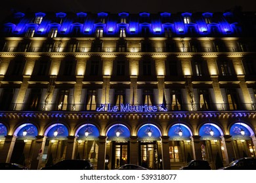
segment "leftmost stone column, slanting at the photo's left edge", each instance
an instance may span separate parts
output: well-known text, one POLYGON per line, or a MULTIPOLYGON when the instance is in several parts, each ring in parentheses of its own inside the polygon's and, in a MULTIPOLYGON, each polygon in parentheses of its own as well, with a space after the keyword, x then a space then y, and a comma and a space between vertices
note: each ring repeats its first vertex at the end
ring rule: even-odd
POLYGON ((7 135, 5 137, 5 143, 3 144, 3 149, 0 152, 0 162, 9 163, 11 161, 12 151, 16 142, 16 138, 16 136, 12 135, 7 135))

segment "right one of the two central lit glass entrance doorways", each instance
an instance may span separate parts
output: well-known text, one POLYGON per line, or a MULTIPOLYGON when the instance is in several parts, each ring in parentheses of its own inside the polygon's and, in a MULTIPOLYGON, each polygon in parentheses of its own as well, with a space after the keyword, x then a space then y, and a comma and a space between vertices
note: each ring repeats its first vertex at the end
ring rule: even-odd
POLYGON ((147 169, 158 169, 158 142, 140 142, 139 165, 147 169))

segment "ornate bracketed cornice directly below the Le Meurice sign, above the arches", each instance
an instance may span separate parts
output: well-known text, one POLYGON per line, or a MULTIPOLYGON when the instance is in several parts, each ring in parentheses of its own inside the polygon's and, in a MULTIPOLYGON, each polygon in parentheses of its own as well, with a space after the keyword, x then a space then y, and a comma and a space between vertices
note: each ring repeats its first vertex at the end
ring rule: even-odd
POLYGON ((142 119, 154 119, 154 120, 173 120, 173 119, 230 119, 230 118, 255 118, 256 111, 236 111, 236 112, 0 112, 1 120, 11 120, 11 119, 91 119, 96 120, 108 120, 108 119, 126 119, 126 120, 142 120, 142 119))

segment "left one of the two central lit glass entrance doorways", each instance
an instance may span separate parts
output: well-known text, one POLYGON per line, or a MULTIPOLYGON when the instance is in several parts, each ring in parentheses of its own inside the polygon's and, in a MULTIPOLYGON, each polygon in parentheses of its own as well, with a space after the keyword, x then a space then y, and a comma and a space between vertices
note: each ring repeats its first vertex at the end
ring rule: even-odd
POLYGON ((113 157, 111 169, 118 169, 122 165, 129 163, 129 143, 128 142, 113 142, 113 157))

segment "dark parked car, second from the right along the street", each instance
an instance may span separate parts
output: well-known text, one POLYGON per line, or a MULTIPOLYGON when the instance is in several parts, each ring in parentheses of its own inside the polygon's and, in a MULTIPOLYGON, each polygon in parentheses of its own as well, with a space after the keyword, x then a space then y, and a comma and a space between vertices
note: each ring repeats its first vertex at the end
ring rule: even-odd
POLYGON ((209 162, 202 159, 191 160, 180 170, 211 170, 209 162))

